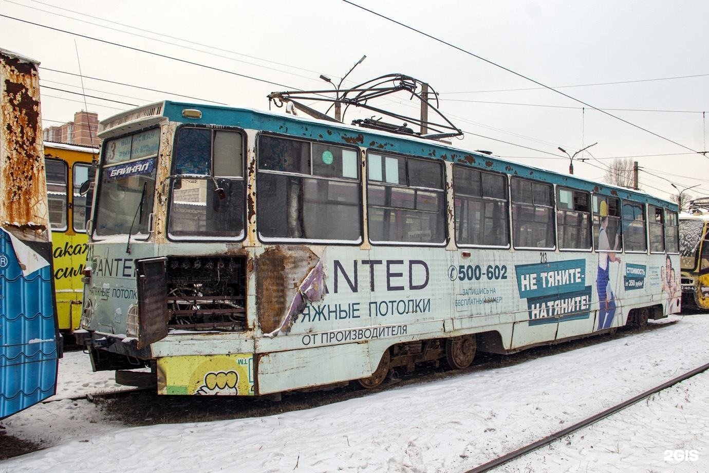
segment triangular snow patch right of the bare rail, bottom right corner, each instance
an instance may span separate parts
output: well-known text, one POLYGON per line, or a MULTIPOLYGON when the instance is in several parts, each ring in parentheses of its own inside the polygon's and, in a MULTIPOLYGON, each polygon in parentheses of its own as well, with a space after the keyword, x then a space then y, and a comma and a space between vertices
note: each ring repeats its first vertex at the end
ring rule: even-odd
POLYGON ((707 472, 707 392, 704 372, 494 471, 707 472))

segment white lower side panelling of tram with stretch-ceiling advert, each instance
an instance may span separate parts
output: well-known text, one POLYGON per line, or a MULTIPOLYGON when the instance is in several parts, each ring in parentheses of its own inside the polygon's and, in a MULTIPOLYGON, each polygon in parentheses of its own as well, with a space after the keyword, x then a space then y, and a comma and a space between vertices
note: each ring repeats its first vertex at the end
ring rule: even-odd
POLYGON ((259 393, 365 377, 396 343, 497 332, 503 349, 515 350, 617 328, 632 308, 667 304, 661 274, 678 263, 675 255, 624 255, 610 266, 606 305, 597 289, 602 253, 470 253, 328 247, 323 299, 308 301, 288 333, 257 342, 267 351, 259 393))

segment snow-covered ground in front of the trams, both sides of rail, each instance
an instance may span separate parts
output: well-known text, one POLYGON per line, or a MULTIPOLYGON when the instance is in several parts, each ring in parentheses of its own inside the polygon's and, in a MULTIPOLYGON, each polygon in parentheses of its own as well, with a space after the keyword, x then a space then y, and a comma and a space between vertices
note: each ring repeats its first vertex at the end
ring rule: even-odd
MULTIPOLYGON (((709 362, 709 315, 670 320, 678 323, 520 365, 268 417, 126 428, 88 401, 40 404, 3 424, 52 446, 0 462, 0 472, 462 472, 709 362)), ((58 397, 115 388, 86 355, 62 360, 58 397)), ((496 471, 709 472, 708 389, 700 374, 496 471)))

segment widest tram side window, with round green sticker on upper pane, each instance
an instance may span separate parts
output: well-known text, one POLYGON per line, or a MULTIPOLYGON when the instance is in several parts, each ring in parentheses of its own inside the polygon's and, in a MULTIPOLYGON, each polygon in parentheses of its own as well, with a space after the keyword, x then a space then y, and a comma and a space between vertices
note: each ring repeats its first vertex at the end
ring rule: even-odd
POLYGON ((262 135, 256 218, 262 240, 362 241, 358 151, 262 135))

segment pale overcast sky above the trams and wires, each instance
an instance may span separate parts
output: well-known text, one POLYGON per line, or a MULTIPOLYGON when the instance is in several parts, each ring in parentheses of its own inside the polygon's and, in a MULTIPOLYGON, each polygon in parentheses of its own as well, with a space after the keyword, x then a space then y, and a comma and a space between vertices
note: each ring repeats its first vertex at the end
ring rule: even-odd
MULTIPOLYGON (((45 126, 84 108, 79 77, 63 73, 79 73, 77 50, 84 76, 128 84, 84 78, 86 95, 102 98, 86 98, 100 119, 131 108, 126 104, 162 99, 267 109, 269 92, 327 88, 320 74, 338 82, 367 55, 344 85, 394 72, 428 82, 440 94, 442 112, 467 132, 456 146, 568 172, 569 158, 557 148, 573 154, 597 142, 591 154, 578 156, 596 160, 575 162, 575 174, 601 179, 610 158, 632 157, 650 194, 676 192, 673 182, 680 189, 700 184, 688 194, 709 196, 709 158, 697 153, 706 150, 709 133, 703 114, 709 111, 708 1, 352 3, 465 52, 342 0, 0 0, 0 15, 42 25, 0 16, 0 48, 41 62, 45 126)), ((408 96, 393 99, 379 105, 418 114, 408 96)))

